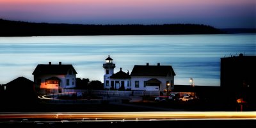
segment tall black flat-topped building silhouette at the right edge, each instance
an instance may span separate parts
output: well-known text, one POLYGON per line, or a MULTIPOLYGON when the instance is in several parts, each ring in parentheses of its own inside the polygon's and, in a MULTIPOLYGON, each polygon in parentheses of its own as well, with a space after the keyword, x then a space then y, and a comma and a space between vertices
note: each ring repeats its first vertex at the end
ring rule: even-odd
POLYGON ((256 56, 231 56, 221 58, 221 89, 230 98, 255 104, 256 56))

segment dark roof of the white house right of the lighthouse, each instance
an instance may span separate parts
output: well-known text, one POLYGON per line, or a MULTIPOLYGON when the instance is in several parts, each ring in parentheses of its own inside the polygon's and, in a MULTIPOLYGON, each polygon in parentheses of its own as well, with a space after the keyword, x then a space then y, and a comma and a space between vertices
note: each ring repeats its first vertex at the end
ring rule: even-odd
POLYGON ((172 73, 173 76, 176 75, 172 66, 135 65, 131 76, 168 76, 168 73, 172 73))

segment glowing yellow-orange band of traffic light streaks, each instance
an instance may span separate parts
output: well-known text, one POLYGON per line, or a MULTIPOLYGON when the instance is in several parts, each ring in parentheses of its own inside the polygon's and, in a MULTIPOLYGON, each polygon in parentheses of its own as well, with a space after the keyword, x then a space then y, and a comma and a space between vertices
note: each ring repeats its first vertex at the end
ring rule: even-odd
POLYGON ((63 112, 63 113, 0 113, 3 120, 47 121, 157 121, 157 120, 256 120, 256 111, 237 112, 63 112))

